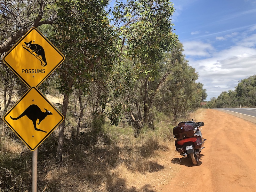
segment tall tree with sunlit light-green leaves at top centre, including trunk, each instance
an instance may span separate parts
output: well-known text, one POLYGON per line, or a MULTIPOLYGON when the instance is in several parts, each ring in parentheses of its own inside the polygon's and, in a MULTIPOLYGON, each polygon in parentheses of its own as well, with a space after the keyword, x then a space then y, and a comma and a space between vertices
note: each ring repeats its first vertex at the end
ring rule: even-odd
MULTIPOLYGON (((159 63, 177 41, 171 21, 173 12, 173 4, 167 0, 116 2, 112 12, 113 25, 123 42, 121 51, 125 58, 132 60, 134 76, 142 88, 139 89, 142 91, 144 124, 148 123, 152 106, 149 83, 159 77, 159 63)), ((160 82, 163 78, 159 78, 160 82)))

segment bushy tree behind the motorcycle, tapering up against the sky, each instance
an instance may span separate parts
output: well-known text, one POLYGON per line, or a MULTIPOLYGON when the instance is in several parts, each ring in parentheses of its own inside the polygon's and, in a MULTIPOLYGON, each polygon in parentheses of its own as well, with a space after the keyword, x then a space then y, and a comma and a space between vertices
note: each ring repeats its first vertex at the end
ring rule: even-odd
POLYGON ((154 102, 158 111, 169 114, 174 121, 196 109, 207 97, 203 84, 196 83, 198 74, 195 68, 188 65, 183 51, 183 45, 178 42, 177 46, 166 54, 165 64, 172 73, 167 76, 154 102))

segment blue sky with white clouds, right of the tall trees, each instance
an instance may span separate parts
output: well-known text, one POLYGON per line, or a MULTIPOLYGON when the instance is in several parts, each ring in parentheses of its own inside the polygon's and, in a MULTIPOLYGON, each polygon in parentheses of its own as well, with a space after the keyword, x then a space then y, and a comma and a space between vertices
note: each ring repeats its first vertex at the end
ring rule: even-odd
MULTIPOLYGON (((171 0, 172 1, 172 0, 171 0)), ((256 74, 256 0, 173 0, 172 23, 207 100, 256 74)))

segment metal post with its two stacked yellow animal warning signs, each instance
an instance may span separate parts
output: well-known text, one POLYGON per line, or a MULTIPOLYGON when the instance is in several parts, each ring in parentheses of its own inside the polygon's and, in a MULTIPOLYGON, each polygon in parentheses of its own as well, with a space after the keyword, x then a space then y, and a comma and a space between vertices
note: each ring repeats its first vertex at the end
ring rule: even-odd
POLYGON ((3 58, 30 88, 3 119, 32 151, 32 192, 37 190, 37 147, 64 120, 37 87, 64 59, 64 55, 36 28, 31 28, 3 58))

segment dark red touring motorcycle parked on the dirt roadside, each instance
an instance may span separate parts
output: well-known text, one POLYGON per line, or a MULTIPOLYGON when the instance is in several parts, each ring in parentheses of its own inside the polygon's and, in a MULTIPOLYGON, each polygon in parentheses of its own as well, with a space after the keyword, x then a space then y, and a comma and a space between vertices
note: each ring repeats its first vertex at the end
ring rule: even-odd
POLYGON ((176 150, 180 152, 182 157, 190 156, 192 163, 199 163, 200 152, 204 148, 204 141, 199 127, 204 126, 204 122, 186 121, 180 122, 178 126, 173 128, 173 136, 175 140, 176 150))

